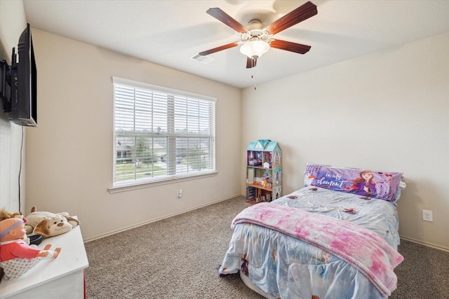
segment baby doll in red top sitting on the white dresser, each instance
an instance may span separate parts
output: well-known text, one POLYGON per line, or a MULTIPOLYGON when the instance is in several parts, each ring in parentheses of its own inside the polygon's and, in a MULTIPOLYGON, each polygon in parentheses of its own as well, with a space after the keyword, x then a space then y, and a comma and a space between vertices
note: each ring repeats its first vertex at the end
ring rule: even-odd
POLYGON ((27 218, 7 218, 0 221, 0 267, 5 279, 15 279, 34 267, 43 258, 56 258, 61 249, 50 251, 51 244, 43 250, 29 246, 25 241, 27 218))

